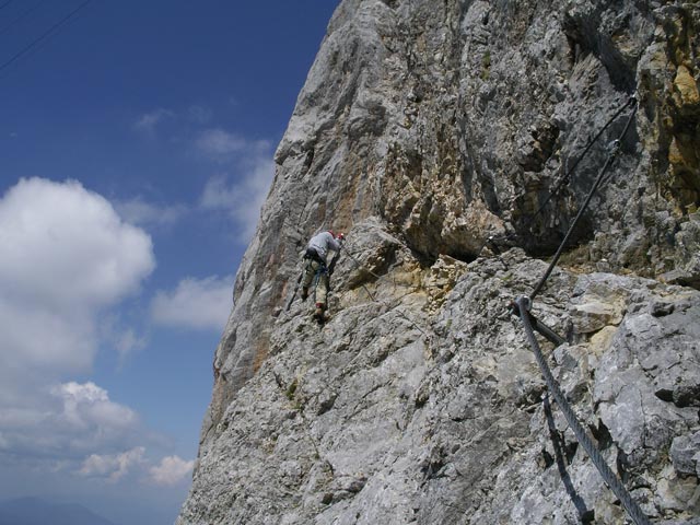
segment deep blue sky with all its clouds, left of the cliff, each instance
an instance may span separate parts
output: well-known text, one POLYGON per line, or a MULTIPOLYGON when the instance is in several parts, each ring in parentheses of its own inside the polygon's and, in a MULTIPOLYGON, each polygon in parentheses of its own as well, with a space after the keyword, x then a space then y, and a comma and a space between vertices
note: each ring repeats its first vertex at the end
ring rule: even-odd
POLYGON ((337 0, 0 0, 0 500, 173 523, 337 0), (14 57, 18 57, 13 60, 14 57))

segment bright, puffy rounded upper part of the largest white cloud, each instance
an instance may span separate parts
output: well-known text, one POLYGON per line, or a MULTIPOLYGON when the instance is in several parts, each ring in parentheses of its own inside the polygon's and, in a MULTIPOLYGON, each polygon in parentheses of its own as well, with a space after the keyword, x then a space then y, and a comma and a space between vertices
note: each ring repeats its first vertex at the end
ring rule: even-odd
POLYGON ((80 183, 21 179, 0 200, 0 282, 51 305, 114 303, 154 267, 151 238, 80 183))

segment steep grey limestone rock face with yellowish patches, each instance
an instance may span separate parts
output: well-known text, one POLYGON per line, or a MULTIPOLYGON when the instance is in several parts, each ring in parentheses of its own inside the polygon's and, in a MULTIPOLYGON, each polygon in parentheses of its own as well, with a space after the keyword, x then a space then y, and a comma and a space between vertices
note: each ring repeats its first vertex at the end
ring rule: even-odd
POLYGON ((343 0, 238 270, 178 524, 623 523, 510 308, 608 161, 533 314, 643 512, 700 523, 698 26, 690 2, 343 0), (348 236, 323 328, 284 308, 320 228, 348 236))

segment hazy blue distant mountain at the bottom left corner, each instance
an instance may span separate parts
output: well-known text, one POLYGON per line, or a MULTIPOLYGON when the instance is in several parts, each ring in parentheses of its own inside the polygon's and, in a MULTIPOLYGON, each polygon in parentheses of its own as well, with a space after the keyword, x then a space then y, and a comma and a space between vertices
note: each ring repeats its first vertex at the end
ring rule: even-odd
POLYGON ((77 504, 20 498, 0 503, 0 525, 115 525, 77 504))

